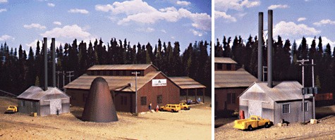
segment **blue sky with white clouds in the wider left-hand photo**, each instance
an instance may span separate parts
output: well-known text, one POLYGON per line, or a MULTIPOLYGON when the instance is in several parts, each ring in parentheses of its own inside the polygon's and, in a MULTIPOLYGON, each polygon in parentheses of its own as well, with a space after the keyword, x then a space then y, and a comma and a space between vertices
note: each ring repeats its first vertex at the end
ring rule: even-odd
POLYGON ((127 39, 134 44, 154 47, 162 42, 188 44, 210 42, 211 1, 129 0, 60 1, 0 0, 0 44, 35 51, 37 40, 56 38, 56 46, 92 43, 102 38, 127 39))

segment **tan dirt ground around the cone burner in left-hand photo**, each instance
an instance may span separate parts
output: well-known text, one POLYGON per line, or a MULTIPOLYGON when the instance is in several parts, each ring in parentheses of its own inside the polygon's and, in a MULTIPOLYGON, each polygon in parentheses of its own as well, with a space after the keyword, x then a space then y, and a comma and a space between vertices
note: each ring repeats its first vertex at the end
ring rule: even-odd
POLYGON ((0 97, 0 139, 211 139, 207 101, 179 113, 118 113, 118 122, 96 123, 79 120, 83 108, 77 107, 59 116, 4 114, 16 99, 0 97))

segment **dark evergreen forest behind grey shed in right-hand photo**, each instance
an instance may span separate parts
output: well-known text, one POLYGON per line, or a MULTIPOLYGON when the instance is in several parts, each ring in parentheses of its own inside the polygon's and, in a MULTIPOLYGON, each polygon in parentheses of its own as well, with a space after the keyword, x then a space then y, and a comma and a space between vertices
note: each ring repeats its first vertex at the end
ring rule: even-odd
MULTIPOLYGON (((263 39, 264 40, 264 39, 263 39)), ((315 37, 307 42, 303 37, 301 42, 282 39, 278 36, 273 44, 273 80, 298 81, 302 83, 302 66, 298 60, 308 59, 311 64, 314 60, 315 86, 319 93, 334 93, 335 91, 335 47, 331 51, 330 44, 322 44, 322 37, 315 37), (318 44, 316 44, 318 41, 318 44), (333 52, 333 53, 331 53, 333 52)), ((229 57, 245 68, 250 74, 257 77, 257 37, 248 37, 244 41, 241 37, 224 37, 217 39, 214 44, 215 57, 229 57)), ((267 47, 263 42, 263 65, 267 65, 267 47)), ((305 66, 305 87, 312 87, 312 67, 305 66)), ((265 76, 265 81, 266 81, 265 76)))

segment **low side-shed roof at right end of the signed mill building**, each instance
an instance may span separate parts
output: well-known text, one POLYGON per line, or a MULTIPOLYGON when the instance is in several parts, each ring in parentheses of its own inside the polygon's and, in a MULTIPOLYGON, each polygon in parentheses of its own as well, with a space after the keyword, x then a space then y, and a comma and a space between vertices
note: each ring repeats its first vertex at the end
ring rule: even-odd
POLYGON ((196 82, 194 79, 190 77, 169 77, 172 82, 177 84, 177 86, 181 89, 202 89, 206 88, 204 85, 196 82))

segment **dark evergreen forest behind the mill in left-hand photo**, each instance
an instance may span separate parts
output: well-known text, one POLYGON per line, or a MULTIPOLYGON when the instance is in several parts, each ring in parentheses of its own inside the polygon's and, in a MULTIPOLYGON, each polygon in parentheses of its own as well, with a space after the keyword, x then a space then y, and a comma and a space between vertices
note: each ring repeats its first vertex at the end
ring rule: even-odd
MULTIPOLYGON (((49 43, 49 42, 48 42, 49 43)), ((6 42, 0 49, 0 90, 11 94, 20 94, 30 86, 44 84, 44 50, 43 42, 30 46, 27 51, 20 45, 9 47, 6 42), (33 51, 33 48, 35 51, 33 51)), ((51 85, 51 52, 48 46, 48 83, 51 85)), ((188 76, 204 84, 206 94, 211 94, 211 54, 207 41, 190 43, 181 52, 179 42, 161 42, 157 44, 130 44, 127 39, 102 42, 77 42, 56 46, 56 71, 73 71, 72 80, 83 75, 92 65, 144 64, 152 63, 169 77, 188 76)), ((56 83, 58 75, 56 75, 56 83)), ((59 87, 68 84, 68 77, 59 75, 59 87)))

